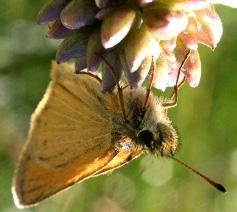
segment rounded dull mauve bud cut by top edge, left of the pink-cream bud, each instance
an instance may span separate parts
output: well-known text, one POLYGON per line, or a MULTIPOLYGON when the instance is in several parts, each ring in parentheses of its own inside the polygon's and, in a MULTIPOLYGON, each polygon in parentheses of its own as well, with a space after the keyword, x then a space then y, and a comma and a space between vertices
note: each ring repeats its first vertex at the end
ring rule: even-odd
POLYGON ((79 29, 95 21, 97 8, 93 0, 72 0, 62 11, 61 21, 69 29, 79 29))

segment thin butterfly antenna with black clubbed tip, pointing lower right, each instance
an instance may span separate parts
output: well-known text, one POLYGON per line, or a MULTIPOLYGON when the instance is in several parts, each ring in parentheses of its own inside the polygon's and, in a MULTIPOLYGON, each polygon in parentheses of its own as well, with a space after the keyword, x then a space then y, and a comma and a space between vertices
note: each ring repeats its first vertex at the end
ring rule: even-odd
POLYGON ((213 187, 215 187, 218 191, 221 191, 221 192, 226 192, 226 189, 223 185, 215 182, 214 180, 211 180, 209 177, 203 175, 202 173, 200 173, 199 171, 195 170, 194 168, 192 168, 191 166, 185 164, 183 161, 177 159, 177 158, 174 158, 174 157, 171 157, 174 161, 178 162, 179 164, 185 166, 187 169, 191 170, 192 172, 196 173, 197 175, 199 175, 201 178, 203 178, 204 180, 206 180, 210 185, 212 185, 213 187))

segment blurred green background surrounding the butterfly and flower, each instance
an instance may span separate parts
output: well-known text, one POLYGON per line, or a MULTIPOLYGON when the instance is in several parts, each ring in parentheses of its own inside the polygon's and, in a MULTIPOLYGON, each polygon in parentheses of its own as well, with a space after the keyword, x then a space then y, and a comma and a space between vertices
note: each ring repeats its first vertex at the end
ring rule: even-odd
POLYGON ((218 48, 200 49, 199 87, 185 85, 170 112, 182 141, 176 157, 223 183, 226 194, 173 161, 144 156, 34 208, 14 206, 15 162, 58 45, 35 23, 43 2, 0 0, 0 211, 237 211, 237 11, 226 7, 217 7, 224 25, 218 48))

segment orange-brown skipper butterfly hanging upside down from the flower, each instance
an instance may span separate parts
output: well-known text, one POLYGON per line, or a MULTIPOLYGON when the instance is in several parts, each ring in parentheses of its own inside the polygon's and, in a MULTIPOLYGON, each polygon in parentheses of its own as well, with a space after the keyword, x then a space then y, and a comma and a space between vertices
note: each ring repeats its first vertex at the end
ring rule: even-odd
POLYGON ((111 172, 145 152, 175 154, 179 142, 167 109, 176 101, 142 88, 103 94, 100 78, 74 74, 67 64, 54 63, 51 79, 32 115, 13 180, 18 207, 111 172))

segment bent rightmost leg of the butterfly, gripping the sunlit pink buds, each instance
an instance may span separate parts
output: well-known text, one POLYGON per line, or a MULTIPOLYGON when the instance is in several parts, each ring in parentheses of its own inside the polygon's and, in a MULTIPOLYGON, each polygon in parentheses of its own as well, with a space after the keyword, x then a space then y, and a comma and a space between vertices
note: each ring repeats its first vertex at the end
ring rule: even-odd
POLYGON ((168 98, 168 101, 164 102, 162 104, 163 107, 165 108, 171 108, 171 107, 175 107, 177 105, 177 102, 178 102, 178 90, 179 88, 181 88, 181 86, 184 84, 185 82, 185 77, 183 78, 183 80, 179 83, 179 77, 180 77, 180 73, 181 73, 181 70, 182 68, 184 67, 184 64, 186 63, 186 61, 188 60, 189 58, 189 55, 191 53, 191 50, 189 50, 187 52, 187 54, 185 55, 184 57, 184 60, 182 61, 179 69, 178 69, 178 74, 177 74, 177 78, 176 78, 176 83, 175 83, 175 86, 174 86, 174 90, 172 92, 172 95, 170 96, 170 98, 168 98))

